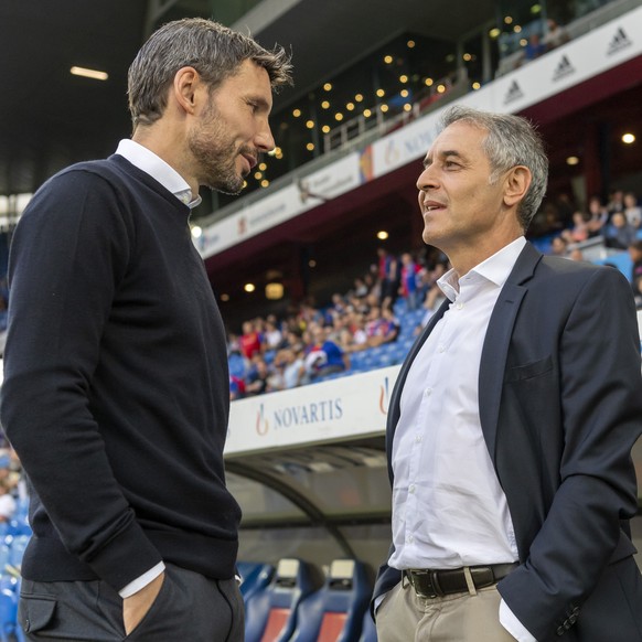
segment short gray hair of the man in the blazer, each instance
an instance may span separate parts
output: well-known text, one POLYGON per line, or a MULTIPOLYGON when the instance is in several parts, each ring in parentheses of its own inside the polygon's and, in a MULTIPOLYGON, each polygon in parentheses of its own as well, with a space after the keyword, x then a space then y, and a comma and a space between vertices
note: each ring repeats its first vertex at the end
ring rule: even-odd
POLYGON ((441 129, 463 120, 488 132, 482 148, 491 165, 491 184, 516 165, 531 170, 531 186, 517 207, 517 218, 526 231, 542 204, 548 183, 548 158, 542 137, 533 125, 513 114, 480 111, 462 105, 448 108, 440 120, 441 129))

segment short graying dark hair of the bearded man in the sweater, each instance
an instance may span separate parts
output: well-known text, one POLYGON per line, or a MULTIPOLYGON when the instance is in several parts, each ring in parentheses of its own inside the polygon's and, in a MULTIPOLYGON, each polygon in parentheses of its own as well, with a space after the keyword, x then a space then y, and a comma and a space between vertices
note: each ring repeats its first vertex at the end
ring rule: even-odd
POLYGON ((129 67, 133 128, 151 125, 162 116, 168 89, 181 67, 194 67, 214 90, 246 60, 268 73, 272 90, 291 84, 290 56, 281 46, 268 51, 252 38, 202 18, 164 24, 151 34, 129 67))

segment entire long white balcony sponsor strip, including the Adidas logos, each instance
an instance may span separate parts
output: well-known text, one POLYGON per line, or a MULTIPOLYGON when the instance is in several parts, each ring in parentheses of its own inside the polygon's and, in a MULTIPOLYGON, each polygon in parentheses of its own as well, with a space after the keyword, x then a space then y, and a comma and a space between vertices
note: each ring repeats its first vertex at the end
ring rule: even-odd
MULTIPOLYGON (((479 109, 517 113, 642 55, 642 7, 599 26, 458 100, 479 109)), ((203 231, 195 244, 204 258, 288 221, 328 199, 424 158, 443 108, 359 152, 253 203, 203 231)), ((417 175, 419 174, 417 165, 417 175)))

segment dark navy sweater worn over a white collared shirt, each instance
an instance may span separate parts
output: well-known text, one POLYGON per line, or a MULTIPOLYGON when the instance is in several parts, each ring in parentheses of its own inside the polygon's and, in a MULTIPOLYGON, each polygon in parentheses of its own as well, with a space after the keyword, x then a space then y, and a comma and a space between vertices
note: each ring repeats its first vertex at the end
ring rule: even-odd
POLYGON ((15 229, 0 409, 34 489, 28 579, 234 575, 225 335, 189 214, 113 156, 47 181, 15 229))

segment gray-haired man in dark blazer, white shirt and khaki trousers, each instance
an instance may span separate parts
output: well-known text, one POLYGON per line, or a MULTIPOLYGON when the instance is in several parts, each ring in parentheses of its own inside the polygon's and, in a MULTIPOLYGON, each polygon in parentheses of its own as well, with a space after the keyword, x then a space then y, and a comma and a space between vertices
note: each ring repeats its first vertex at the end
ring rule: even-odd
POLYGON ((390 399, 378 639, 642 641, 630 286, 525 240, 547 175, 527 121, 453 107, 442 126, 417 186, 452 270, 390 399))

